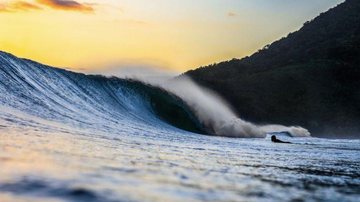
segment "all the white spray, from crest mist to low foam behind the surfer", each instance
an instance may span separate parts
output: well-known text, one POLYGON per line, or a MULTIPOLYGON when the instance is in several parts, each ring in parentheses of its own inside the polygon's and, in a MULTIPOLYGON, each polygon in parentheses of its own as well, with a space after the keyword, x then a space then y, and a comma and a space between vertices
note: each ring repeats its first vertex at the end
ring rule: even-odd
POLYGON ((137 79, 163 88, 180 97, 193 110, 201 124, 211 135, 241 138, 264 138, 267 133, 289 132, 295 137, 310 136, 310 132, 300 126, 256 125, 239 118, 230 105, 215 92, 200 87, 190 78, 181 76, 173 79, 168 72, 142 69, 126 72, 122 77, 137 79), (135 73, 135 74, 134 74, 135 73))

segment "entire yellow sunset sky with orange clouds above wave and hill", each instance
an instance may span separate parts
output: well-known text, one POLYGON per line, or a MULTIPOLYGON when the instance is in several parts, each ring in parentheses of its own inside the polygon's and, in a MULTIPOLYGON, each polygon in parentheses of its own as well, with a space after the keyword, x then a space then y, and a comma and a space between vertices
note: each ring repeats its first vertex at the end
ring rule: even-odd
POLYGON ((251 55, 344 0, 0 0, 0 50, 82 72, 251 55))

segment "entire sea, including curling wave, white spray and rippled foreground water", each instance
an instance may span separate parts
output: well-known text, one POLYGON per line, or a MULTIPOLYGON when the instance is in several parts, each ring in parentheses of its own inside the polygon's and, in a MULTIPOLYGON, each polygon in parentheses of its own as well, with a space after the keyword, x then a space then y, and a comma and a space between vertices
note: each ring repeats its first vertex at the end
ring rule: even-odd
POLYGON ((191 82, 157 86, 1 52, 0 201, 360 197, 360 141, 282 137, 295 144, 273 144, 251 137, 308 134, 241 120, 191 82))

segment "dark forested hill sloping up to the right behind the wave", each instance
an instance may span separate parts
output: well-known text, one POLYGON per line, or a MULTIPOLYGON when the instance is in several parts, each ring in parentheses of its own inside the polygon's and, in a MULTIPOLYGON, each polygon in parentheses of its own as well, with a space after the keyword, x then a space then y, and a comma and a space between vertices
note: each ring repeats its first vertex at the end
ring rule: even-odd
POLYGON ((360 0, 322 13, 250 57, 185 73, 245 119, 360 138, 360 0))

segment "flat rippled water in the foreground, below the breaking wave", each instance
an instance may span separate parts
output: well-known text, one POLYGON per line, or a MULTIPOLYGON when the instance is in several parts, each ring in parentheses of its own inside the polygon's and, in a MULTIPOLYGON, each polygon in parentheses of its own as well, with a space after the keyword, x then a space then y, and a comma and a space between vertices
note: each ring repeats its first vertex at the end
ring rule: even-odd
POLYGON ((358 201, 360 141, 0 130, 0 201, 358 201), (119 134, 120 135, 120 134, 119 134))

